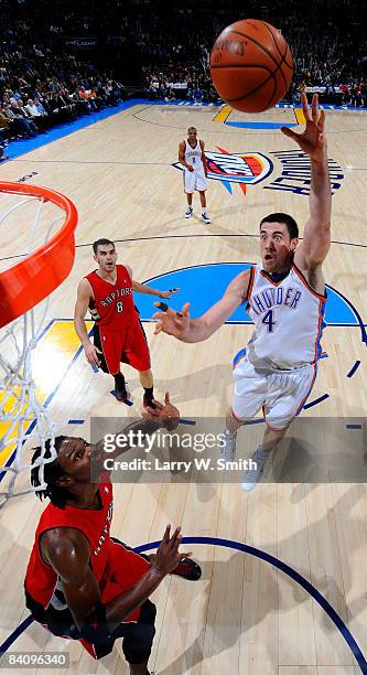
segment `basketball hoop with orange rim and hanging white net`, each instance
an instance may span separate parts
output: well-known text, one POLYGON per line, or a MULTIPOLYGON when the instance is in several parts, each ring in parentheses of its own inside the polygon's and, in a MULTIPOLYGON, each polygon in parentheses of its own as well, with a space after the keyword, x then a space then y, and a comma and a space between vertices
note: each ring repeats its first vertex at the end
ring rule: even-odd
POLYGON ((24 216, 25 223, 32 219, 32 226, 24 242, 26 253, 19 256, 18 250, 15 256, 9 256, 22 259, 0 271, 0 480, 9 479, 9 484, 0 490, 0 506, 12 496, 34 490, 26 485, 15 492, 18 474, 32 468, 23 459, 31 431, 35 431, 39 441, 33 444, 42 448, 36 462, 41 467, 39 490, 45 486, 44 464, 55 458, 55 425, 37 399, 32 377, 32 351, 42 334, 50 293, 66 279, 73 267, 77 225, 77 211, 71 200, 48 188, 0 181, 0 200, 2 196, 6 211, 0 215, 0 232, 6 223, 8 239, 10 235, 9 240, 12 240, 14 232, 13 240, 18 240, 15 227, 24 216), (45 298, 47 301, 42 303, 45 298), (44 458, 46 439, 52 441, 48 459, 44 458))

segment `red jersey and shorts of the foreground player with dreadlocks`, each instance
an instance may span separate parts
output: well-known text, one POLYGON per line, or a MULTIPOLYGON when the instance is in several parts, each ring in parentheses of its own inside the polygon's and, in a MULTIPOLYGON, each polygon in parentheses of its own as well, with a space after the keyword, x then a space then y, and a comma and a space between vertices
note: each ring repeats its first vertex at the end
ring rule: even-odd
MULTIPOLYGON (((25 590, 45 609, 53 601, 56 587, 60 588, 55 570, 44 562, 41 555, 40 538, 47 529, 75 527, 86 536, 90 545, 89 565, 98 581, 102 603, 109 602, 131 588, 149 568, 149 562, 141 556, 125 548, 123 545, 117 546, 110 539, 109 529, 114 510, 111 483, 99 485, 99 496, 101 508, 98 510, 76 506, 58 508, 50 503, 41 515, 26 568, 25 590)), ((134 610, 125 621, 137 621, 140 609, 134 610)))

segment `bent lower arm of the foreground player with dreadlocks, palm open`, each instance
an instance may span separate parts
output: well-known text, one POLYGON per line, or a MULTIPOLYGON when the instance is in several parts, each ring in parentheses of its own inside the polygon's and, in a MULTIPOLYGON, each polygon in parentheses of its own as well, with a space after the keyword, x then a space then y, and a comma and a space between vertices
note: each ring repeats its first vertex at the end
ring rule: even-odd
POLYGON ((90 547, 86 537, 74 528, 47 531, 41 540, 42 555, 53 567, 63 585, 67 606, 75 623, 90 642, 106 640, 133 610, 139 608, 172 572, 182 558, 191 553, 180 553, 181 528, 171 536, 168 525, 156 556, 149 569, 128 591, 107 604, 101 604, 100 590, 90 566, 90 547))

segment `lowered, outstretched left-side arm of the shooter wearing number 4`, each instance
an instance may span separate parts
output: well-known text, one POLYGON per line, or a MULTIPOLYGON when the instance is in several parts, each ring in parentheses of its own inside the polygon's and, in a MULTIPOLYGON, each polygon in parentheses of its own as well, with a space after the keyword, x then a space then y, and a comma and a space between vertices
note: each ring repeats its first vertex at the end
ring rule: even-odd
POLYGON ((228 285, 223 298, 202 317, 190 318, 190 303, 183 306, 182 312, 168 309, 165 312, 156 312, 154 335, 166 333, 182 342, 202 342, 207 340, 220 325, 233 314, 233 312, 245 302, 250 280, 250 270, 246 269, 228 285))

